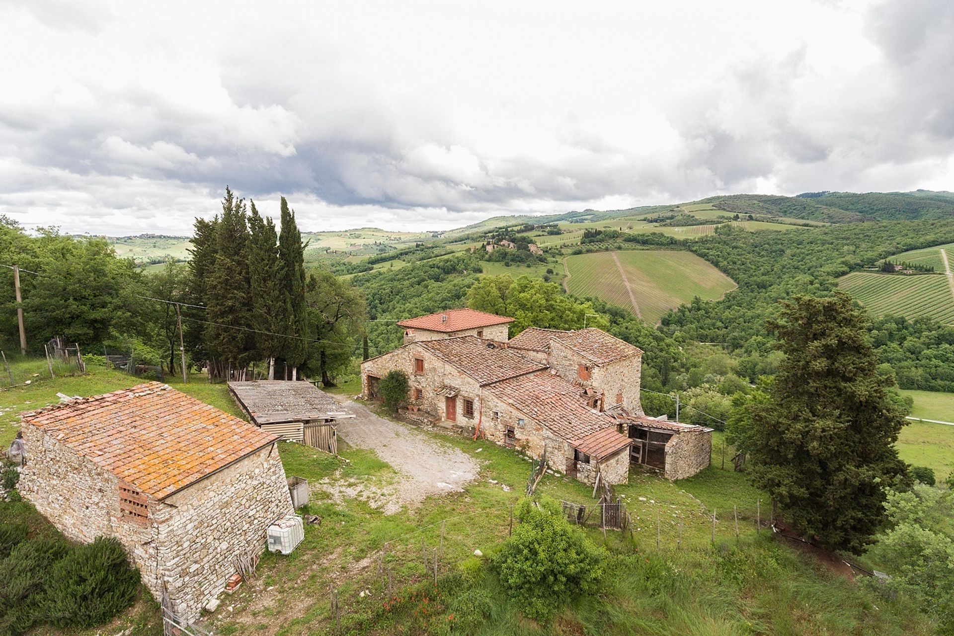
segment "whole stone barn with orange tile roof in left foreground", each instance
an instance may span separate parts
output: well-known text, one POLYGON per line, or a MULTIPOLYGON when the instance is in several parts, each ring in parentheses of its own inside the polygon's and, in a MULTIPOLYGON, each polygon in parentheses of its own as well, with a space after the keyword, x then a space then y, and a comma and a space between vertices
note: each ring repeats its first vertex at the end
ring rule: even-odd
POLYGON ((73 540, 118 539, 187 621, 294 512, 276 436, 165 384, 27 412, 21 430, 23 496, 73 540))

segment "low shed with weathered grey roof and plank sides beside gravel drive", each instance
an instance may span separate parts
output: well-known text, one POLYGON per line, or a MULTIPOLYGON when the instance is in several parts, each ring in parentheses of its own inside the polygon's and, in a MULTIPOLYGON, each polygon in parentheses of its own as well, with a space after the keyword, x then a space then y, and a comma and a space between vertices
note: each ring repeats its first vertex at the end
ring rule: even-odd
POLYGON ((335 422, 355 417, 311 382, 229 382, 229 393, 261 430, 329 453, 338 453, 335 422))

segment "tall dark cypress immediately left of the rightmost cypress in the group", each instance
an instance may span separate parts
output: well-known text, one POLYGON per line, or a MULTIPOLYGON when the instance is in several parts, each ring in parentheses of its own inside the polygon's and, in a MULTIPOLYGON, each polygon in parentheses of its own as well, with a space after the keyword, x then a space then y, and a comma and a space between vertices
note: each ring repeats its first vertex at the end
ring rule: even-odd
POLYGON ((270 217, 262 218, 250 202, 249 269, 252 290, 252 325, 259 355, 268 359, 268 379, 275 380, 275 358, 282 352, 285 328, 284 268, 279 256, 279 235, 270 217), (268 332, 260 333, 260 332, 268 332))

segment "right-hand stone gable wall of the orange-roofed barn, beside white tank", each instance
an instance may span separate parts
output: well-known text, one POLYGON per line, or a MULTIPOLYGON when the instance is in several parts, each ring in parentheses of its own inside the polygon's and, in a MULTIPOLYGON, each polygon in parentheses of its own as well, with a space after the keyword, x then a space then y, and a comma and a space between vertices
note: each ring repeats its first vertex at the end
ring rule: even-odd
POLYGON ((161 506, 174 512, 157 527, 159 576, 177 613, 190 621, 225 588, 236 571, 232 558, 261 553, 268 526, 294 512, 276 444, 176 492, 161 506))

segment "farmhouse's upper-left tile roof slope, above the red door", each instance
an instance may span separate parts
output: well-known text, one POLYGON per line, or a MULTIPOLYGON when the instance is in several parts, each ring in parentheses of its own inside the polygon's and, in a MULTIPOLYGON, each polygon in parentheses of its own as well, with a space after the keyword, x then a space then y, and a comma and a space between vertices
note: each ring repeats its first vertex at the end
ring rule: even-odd
POLYGON ((500 342, 476 336, 425 340, 409 346, 424 348, 477 380, 479 384, 489 384, 547 368, 546 364, 534 362, 505 349, 500 342))

